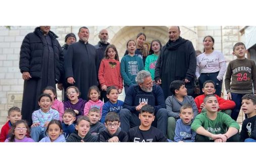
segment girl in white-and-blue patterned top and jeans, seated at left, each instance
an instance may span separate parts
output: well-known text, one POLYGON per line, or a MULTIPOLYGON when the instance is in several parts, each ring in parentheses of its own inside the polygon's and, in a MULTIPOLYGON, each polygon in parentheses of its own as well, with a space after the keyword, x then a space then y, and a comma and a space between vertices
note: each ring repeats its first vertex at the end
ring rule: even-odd
POLYGON ((33 124, 30 136, 35 142, 39 142, 45 137, 44 133, 50 121, 59 120, 59 112, 51 108, 53 100, 48 94, 41 94, 38 98, 40 108, 32 113, 33 124))

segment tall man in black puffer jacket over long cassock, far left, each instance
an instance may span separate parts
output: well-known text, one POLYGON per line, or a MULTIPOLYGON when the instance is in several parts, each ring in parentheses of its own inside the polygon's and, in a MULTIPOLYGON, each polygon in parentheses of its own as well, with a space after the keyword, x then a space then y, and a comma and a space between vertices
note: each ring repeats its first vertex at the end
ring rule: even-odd
POLYGON ((38 96, 46 86, 56 88, 64 71, 64 54, 50 26, 36 27, 25 36, 20 50, 20 71, 24 79, 22 119, 32 124, 32 113, 39 108, 38 96))

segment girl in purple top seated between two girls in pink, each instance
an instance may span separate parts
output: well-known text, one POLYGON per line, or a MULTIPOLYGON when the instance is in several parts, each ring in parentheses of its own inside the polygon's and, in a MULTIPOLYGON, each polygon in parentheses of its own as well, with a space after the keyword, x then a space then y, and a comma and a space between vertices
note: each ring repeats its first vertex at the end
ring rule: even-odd
MULTIPOLYGON (((84 115, 84 105, 87 101, 79 98, 81 93, 76 86, 68 87, 66 90, 66 94, 69 100, 64 102, 64 110, 67 108, 74 109, 77 120, 78 116, 84 115)), ((74 124, 76 124, 76 120, 74 121, 74 124)))

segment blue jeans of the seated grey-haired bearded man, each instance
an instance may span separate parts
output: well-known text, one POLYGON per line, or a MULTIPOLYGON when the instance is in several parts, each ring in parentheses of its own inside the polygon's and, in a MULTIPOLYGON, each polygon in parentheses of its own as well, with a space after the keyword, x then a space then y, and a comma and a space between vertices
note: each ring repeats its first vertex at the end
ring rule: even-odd
MULTIPOLYGON (((164 135, 166 135, 167 132, 167 109, 160 108, 155 113, 156 119, 153 121, 152 126, 157 127, 160 129, 164 135)), ((130 128, 136 127, 140 125, 140 120, 138 118, 138 115, 135 113, 131 113, 131 111, 127 108, 123 108, 119 112, 120 117, 120 127, 124 132, 129 132, 130 128)))

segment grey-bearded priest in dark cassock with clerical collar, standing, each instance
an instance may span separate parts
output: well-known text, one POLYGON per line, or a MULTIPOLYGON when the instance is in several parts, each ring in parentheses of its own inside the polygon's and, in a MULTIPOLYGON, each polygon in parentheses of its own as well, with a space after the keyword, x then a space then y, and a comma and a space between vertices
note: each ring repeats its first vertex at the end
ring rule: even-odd
POLYGON ((88 89, 97 85, 98 55, 96 48, 88 43, 89 29, 85 26, 78 31, 79 41, 69 45, 65 57, 67 82, 79 88, 80 97, 88 100, 88 89))

